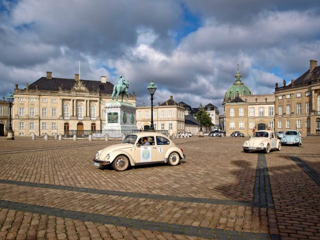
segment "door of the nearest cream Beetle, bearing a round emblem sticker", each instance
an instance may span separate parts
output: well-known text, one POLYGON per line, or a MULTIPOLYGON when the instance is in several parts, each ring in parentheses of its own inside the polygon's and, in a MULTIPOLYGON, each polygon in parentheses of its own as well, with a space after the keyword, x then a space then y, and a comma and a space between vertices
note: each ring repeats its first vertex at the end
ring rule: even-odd
POLYGON ((150 145, 142 145, 142 138, 140 137, 134 148, 134 162, 135 163, 146 163, 156 161, 157 149, 154 144, 154 136, 146 136, 150 145))

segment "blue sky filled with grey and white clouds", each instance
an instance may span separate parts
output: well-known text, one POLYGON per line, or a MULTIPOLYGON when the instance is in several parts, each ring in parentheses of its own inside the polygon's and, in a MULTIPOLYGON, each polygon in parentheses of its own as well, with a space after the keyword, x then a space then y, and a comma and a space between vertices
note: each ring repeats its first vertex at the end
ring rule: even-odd
POLYGON ((137 105, 220 108, 239 64, 253 94, 320 63, 318 0, 0 0, 0 96, 53 77, 130 80, 137 105))

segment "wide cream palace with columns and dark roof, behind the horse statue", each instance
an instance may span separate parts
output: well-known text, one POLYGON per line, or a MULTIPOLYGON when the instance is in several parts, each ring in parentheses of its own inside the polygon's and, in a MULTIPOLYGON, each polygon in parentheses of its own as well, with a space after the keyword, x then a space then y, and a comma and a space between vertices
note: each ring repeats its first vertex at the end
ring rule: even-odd
MULTIPOLYGON (((111 100, 113 84, 100 81, 52 77, 46 72, 25 88, 14 88, 12 128, 16 136, 55 135, 67 130, 100 130, 105 123, 104 104, 111 100)), ((135 106, 135 94, 128 102, 135 106)))

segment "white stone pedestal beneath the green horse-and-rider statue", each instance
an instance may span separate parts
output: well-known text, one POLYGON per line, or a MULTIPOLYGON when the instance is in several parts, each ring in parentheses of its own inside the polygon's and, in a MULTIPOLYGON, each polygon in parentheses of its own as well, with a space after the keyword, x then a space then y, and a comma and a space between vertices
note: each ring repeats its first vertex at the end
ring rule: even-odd
POLYGON ((133 104, 122 101, 111 101, 104 105, 105 126, 102 130, 137 130, 133 104))

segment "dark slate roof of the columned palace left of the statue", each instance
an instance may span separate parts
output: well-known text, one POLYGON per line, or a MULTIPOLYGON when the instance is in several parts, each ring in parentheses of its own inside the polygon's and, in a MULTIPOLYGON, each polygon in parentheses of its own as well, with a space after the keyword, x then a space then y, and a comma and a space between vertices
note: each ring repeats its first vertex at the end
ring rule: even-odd
MULTIPOLYGON (((96 92, 97 89, 99 89, 100 93, 109 93, 109 94, 111 94, 113 91, 113 84, 109 81, 107 81, 106 83, 102 83, 101 81, 83 80, 83 79, 80 79, 79 81, 82 81, 89 91, 96 92)), ((75 83, 75 79, 72 79, 72 78, 52 77, 51 79, 48 79, 42 76, 39 79, 37 79, 35 82, 31 83, 29 85, 29 89, 36 89, 36 85, 37 85, 39 90, 58 91, 60 86, 63 90, 69 91, 71 90, 74 83, 75 83)))

